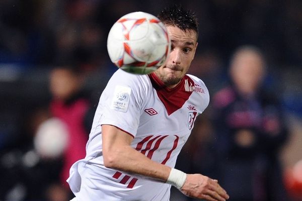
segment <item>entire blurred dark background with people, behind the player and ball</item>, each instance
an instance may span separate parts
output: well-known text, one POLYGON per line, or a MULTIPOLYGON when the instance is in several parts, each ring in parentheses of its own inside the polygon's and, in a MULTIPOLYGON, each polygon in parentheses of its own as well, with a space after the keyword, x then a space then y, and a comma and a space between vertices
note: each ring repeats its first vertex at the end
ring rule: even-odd
MULTIPOLYGON (((217 178, 231 200, 302 200, 302 2, 0 1, 0 200, 65 201, 99 96, 117 69, 121 16, 196 12, 190 73, 210 91, 177 167, 217 178)), ((171 201, 190 200, 173 190, 171 201)))

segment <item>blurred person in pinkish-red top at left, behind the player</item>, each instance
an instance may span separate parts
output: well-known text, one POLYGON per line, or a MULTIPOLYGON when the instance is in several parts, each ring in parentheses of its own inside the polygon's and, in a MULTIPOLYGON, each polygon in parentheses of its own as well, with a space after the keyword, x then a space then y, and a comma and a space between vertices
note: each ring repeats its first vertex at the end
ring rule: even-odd
POLYGON ((63 153, 61 182, 67 185, 71 165, 85 157, 85 148, 90 133, 91 103, 89 95, 83 90, 85 74, 77 64, 63 63, 50 72, 50 92, 52 101, 50 113, 66 124, 68 142, 63 153), (85 123, 89 123, 86 125, 85 123))

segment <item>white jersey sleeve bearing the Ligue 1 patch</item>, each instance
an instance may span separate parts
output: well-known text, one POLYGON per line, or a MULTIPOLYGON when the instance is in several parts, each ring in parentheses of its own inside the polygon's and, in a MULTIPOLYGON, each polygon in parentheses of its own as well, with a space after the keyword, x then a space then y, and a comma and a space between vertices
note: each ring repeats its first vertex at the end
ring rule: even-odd
POLYGON ((100 125, 116 126, 135 137, 147 91, 146 75, 117 70, 100 98, 100 125))

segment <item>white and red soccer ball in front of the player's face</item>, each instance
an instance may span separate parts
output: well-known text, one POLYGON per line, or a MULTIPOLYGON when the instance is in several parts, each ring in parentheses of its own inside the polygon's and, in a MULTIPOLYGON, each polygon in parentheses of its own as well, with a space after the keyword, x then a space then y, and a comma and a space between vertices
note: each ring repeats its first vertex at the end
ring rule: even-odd
POLYGON ((165 25, 157 17, 134 12, 112 26, 107 49, 117 67, 134 74, 148 74, 166 61, 171 41, 165 25))

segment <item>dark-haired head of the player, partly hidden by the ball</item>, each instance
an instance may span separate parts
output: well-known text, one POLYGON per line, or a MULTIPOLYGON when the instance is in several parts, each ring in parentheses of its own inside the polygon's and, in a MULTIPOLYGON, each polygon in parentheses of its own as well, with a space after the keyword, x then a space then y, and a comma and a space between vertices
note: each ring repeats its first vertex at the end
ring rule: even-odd
POLYGON ((172 44, 165 64, 155 73, 168 87, 174 87, 185 76, 194 58, 198 23, 193 12, 180 6, 165 8, 158 17, 166 25, 172 44))

